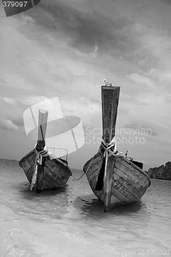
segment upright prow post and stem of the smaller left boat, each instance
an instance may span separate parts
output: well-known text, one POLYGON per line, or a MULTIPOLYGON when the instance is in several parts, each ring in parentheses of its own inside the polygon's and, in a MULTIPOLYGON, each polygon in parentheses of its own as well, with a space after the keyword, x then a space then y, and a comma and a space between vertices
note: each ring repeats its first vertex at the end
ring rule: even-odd
MULTIPOLYGON (((35 146, 35 149, 38 152, 42 151, 45 147, 47 119, 48 119, 48 111, 44 109, 39 109, 38 137, 37 137, 37 144, 35 146)), ((37 158, 37 155, 36 155, 33 174, 31 178, 30 190, 32 190, 32 188, 36 185, 36 192, 41 192, 42 181, 43 181, 42 156, 40 155, 40 159, 39 159, 37 158)))

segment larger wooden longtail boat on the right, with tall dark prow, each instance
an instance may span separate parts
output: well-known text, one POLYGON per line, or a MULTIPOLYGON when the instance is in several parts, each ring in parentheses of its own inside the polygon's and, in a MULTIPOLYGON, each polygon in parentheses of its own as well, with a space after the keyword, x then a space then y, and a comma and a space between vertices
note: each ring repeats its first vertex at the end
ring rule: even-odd
MULTIPOLYGON (((118 152, 115 127, 119 102, 119 86, 105 83, 102 89, 103 137, 99 151, 83 167, 93 193, 103 201, 104 211, 136 203, 150 186, 148 175, 118 152), (109 85, 109 86, 108 86, 109 85)), ((134 162, 134 163, 133 163, 134 162)), ((136 165, 136 164, 138 165, 136 165)))

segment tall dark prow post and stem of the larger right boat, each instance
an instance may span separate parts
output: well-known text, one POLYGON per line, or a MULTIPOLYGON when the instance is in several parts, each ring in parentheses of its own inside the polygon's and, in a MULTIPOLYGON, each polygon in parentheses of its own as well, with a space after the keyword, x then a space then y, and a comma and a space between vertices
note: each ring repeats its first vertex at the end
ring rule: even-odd
MULTIPOLYGON (((102 123, 103 123, 103 140, 105 143, 111 142, 115 137, 116 120, 119 103, 119 86, 102 86, 102 123)), ((111 148, 111 150, 113 150, 111 148)), ((114 169, 115 157, 105 155, 104 170, 104 211, 110 211, 111 186, 114 169)))

